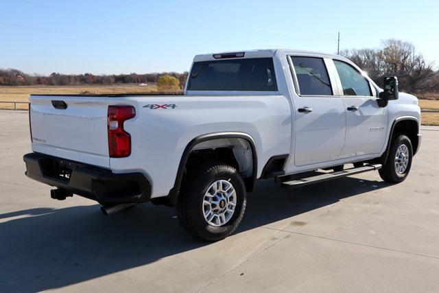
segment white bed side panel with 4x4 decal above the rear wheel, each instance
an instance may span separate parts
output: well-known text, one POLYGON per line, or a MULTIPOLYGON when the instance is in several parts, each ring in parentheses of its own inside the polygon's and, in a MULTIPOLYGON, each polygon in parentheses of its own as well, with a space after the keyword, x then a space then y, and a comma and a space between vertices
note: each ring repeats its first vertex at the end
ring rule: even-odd
POLYGON ((113 172, 143 172, 152 181, 152 198, 169 193, 185 147, 202 134, 249 134, 257 150, 258 177, 271 156, 289 153, 291 114, 283 95, 108 97, 108 104, 121 102, 137 110, 124 124, 132 153, 110 159, 110 167, 113 172), (149 104, 176 107, 144 107, 149 104))

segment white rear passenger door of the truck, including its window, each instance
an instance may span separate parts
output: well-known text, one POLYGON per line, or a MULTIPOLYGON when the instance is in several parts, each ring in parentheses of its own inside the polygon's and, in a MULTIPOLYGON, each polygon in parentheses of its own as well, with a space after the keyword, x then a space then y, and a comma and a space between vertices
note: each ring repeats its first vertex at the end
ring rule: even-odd
POLYGON ((334 95, 326 58, 289 56, 296 88, 294 103, 294 165, 334 161, 342 152, 346 113, 342 97, 334 95))

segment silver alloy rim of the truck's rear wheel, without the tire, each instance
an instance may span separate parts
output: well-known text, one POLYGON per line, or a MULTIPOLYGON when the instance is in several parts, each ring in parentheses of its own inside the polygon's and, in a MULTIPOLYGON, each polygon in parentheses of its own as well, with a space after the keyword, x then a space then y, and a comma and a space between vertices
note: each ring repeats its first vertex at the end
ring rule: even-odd
POLYGON ((227 180, 212 183, 204 194, 202 213, 204 220, 214 227, 226 224, 235 213, 236 191, 227 180))

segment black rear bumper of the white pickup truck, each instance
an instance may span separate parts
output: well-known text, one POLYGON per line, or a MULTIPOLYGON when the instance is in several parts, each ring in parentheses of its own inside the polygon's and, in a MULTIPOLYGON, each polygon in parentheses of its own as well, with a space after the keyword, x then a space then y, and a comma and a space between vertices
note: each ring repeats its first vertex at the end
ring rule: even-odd
POLYGON ((138 172, 115 174, 101 167, 35 152, 25 154, 23 160, 27 177, 100 203, 150 200, 150 182, 138 172))

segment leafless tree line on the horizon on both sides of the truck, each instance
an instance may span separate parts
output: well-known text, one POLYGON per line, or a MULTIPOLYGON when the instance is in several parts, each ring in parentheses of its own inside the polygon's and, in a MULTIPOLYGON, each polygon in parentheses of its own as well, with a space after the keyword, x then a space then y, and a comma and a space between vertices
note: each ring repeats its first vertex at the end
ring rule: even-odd
MULTIPOLYGON (((380 48, 346 49, 340 55, 351 59, 370 78, 381 85, 385 75, 395 75, 399 79, 399 89, 407 93, 439 92, 439 71, 434 62, 427 62, 424 56, 415 50, 412 43, 403 40, 384 40, 380 48)), ((84 84, 139 84, 156 83, 158 78, 166 75, 164 80, 184 86, 187 79, 184 73, 130 73, 118 75, 62 74, 29 75, 17 69, 0 69, 0 86, 40 85, 40 86, 75 86, 84 84), (171 76, 178 83, 169 80, 171 76)))

